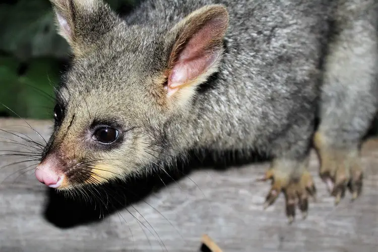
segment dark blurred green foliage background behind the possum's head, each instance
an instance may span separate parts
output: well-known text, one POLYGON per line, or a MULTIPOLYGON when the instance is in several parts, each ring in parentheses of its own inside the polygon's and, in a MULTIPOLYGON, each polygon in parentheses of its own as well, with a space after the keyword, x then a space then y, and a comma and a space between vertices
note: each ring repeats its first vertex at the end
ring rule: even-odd
MULTIPOLYGON (((119 14, 138 0, 106 0, 119 14)), ((53 86, 70 51, 48 0, 0 0, 0 103, 20 117, 52 118, 53 86)), ((0 117, 17 117, 0 105, 0 117)))

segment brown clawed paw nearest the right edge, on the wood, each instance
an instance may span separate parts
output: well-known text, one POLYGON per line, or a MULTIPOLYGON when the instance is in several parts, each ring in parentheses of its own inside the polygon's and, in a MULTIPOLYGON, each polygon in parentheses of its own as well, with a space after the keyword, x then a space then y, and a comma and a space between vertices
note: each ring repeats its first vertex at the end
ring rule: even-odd
POLYGON ((358 147, 335 148, 325 144, 320 133, 314 136, 314 144, 320 158, 320 176, 326 183, 335 204, 345 196, 348 188, 352 199, 358 197, 362 190, 363 169, 360 164, 358 147))

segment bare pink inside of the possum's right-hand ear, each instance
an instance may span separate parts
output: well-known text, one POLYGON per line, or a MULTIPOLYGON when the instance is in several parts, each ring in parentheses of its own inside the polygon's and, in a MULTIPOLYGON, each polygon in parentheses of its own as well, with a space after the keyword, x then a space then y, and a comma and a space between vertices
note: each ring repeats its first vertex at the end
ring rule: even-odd
POLYGON ((220 54, 214 45, 219 39, 219 21, 211 20, 198 30, 180 52, 168 78, 168 88, 175 88, 206 72, 220 54))

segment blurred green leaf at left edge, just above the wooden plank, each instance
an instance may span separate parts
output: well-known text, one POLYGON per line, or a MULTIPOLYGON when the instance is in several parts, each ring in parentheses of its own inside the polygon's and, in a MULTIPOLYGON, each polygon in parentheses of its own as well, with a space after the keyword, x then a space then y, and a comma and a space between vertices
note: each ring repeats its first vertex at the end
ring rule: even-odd
MULTIPOLYGON (((51 118, 54 106, 53 86, 59 80, 58 62, 39 58, 24 65, 5 57, 0 58, 0 62, 0 102, 21 117, 51 118), (20 67, 25 68, 22 75, 19 75, 20 67)), ((6 108, 0 108, 0 111, 12 115, 6 108)))

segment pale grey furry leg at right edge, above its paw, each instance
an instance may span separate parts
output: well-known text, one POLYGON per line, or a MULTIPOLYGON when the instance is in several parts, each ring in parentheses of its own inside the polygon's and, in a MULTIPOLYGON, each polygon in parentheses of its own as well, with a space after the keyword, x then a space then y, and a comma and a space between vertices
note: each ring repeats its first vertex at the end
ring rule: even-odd
POLYGON ((355 148, 376 112, 378 4, 339 1, 326 57, 320 132, 329 144, 355 148))

